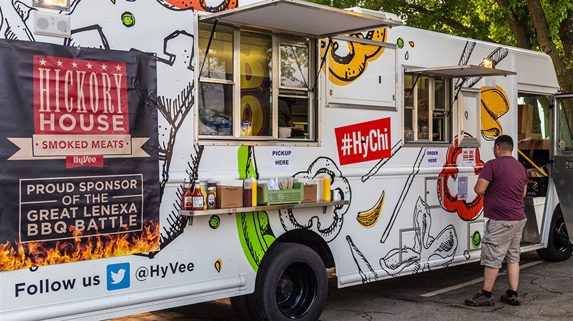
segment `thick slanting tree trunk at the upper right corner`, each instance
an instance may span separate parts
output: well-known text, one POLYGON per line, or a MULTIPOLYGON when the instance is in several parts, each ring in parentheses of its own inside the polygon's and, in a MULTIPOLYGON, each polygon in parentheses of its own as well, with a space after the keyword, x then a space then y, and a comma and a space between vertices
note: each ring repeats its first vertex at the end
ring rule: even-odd
POLYGON ((545 19, 545 12, 543 11, 543 7, 541 7, 540 1, 525 0, 525 4, 527 4, 527 9, 533 18, 533 27, 535 28, 537 37, 539 37, 541 49, 553 60, 553 65, 555 68, 555 73, 557 74, 559 85, 566 92, 571 92, 572 86, 571 78, 569 77, 570 73, 566 68, 563 57, 559 55, 555 43, 551 38, 551 31, 549 30, 547 19, 545 19))

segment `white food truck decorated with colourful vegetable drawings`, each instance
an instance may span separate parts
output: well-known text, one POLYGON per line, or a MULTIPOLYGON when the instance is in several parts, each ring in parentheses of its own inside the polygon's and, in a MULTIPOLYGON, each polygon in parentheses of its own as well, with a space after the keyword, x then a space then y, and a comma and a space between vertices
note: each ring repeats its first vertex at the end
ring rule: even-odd
POLYGON ((477 261, 500 134, 531 176, 523 251, 566 260, 558 93, 544 53, 359 7, 0 0, 0 319, 230 297, 316 320, 327 268, 347 287, 477 261), (208 180, 215 208, 182 209, 208 180))

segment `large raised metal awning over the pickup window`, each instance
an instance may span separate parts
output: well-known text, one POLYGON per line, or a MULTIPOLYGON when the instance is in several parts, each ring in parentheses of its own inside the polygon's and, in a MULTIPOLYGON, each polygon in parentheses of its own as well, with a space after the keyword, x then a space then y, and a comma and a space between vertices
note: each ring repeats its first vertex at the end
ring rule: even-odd
POLYGON ((317 5, 301 0, 267 0, 199 16, 201 22, 263 27, 310 38, 356 33, 402 25, 401 21, 317 5))

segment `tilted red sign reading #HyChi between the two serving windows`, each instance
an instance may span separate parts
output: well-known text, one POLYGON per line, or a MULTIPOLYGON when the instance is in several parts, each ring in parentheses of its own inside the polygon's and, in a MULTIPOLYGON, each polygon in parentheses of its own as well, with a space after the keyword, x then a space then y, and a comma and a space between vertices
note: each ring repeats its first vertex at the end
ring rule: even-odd
POLYGON ((390 117, 334 129, 340 165, 391 156, 390 117))

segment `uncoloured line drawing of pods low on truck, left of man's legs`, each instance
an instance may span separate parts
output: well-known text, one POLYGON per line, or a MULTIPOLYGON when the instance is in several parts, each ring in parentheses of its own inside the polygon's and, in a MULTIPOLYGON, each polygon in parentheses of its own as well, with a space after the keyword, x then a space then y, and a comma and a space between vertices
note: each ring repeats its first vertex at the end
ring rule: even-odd
POLYGON ((414 239, 403 239, 402 248, 391 249, 380 259, 380 267, 388 275, 397 276, 410 265, 414 265, 413 274, 435 267, 446 267, 454 259, 458 247, 456 229, 450 224, 437 236, 432 236, 431 213, 422 197, 418 196, 413 219, 416 231, 414 239))

